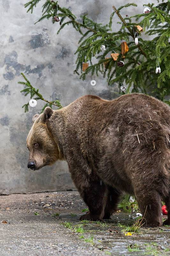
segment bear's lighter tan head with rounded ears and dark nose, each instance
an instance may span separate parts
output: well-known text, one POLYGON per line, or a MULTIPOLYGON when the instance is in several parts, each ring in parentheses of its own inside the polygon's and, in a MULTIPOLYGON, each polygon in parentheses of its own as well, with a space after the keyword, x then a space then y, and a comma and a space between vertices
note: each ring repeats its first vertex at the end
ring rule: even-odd
POLYGON ((28 168, 38 170, 60 159, 60 150, 49 129, 53 110, 45 108, 40 115, 33 116, 33 126, 28 133, 26 144, 29 150, 28 168))

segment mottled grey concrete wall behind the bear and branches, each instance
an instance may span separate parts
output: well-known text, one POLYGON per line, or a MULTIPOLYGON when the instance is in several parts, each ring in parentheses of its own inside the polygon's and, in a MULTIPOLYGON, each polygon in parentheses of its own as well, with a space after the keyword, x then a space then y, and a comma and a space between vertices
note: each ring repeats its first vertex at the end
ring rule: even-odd
MULTIPOLYGON (((116 95, 113 93, 117 90, 116 84, 114 88, 109 88, 102 76, 94 76, 97 85, 92 87, 90 75, 83 82, 73 74, 76 60, 74 52, 80 35, 71 26, 56 35, 59 23, 52 24, 51 20, 34 25, 41 16, 41 2, 31 14, 26 13, 22 0, 0 1, 0 194, 74 188, 66 162, 57 162, 36 172, 27 169, 26 137, 32 125, 32 116, 40 113, 43 103, 38 102, 29 113, 24 113, 21 106, 28 102, 29 97, 20 94, 23 89, 22 85, 17 84, 22 80, 20 72, 26 74, 45 98, 59 99, 63 106, 85 94, 95 94, 108 100, 116 95)), ((112 4, 120 6, 129 1, 59 2, 70 8, 77 17, 87 12, 91 19, 106 24, 112 4)), ((130 16, 135 12, 143 12, 142 5, 147 1, 135 2, 138 8, 130 7, 122 14, 130 16)), ((118 19, 115 18, 115 21, 118 19)), ((114 22, 113 29, 116 27, 114 22)))

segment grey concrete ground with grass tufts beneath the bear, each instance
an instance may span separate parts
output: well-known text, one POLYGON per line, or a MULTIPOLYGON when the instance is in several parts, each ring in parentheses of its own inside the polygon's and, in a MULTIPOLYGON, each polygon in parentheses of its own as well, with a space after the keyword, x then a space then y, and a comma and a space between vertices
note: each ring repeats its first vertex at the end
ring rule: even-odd
POLYGON ((170 227, 130 235, 129 213, 79 221, 85 208, 77 191, 0 196, 0 256, 170 255, 170 227))

